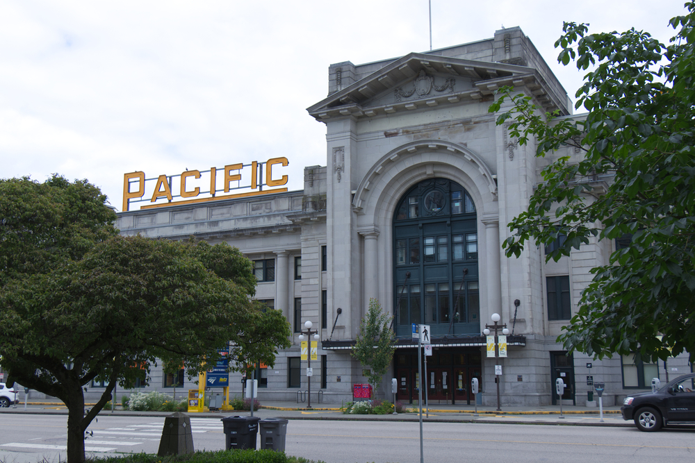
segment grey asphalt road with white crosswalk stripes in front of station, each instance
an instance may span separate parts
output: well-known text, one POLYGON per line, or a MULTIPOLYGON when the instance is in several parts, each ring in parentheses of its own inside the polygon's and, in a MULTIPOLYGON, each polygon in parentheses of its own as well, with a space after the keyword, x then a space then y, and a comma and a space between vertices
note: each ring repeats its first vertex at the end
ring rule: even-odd
MULTIPOLYGON (((65 461, 67 416, 3 414, 0 461, 65 461)), ((85 442, 93 455, 156 453, 164 419, 99 416, 85 442)), ((220 419, 192 418, 196 450, 224 448, 220 419)), ((644 433, 635 428, 538 424, 424 423, 425 462, 689 461, 695 428, 644 433)), ((420 428, 412 422, 291 420, 286 453, 326 463, 417 463, 420 428)))

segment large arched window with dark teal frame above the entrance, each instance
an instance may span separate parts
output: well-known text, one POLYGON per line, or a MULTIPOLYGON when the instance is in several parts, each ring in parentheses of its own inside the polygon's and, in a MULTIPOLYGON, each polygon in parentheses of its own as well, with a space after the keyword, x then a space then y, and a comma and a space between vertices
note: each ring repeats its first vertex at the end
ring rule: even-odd
POLYGON ((412 187, 393 217, 396 335, 412 323, 432 335, 480 333, 475 205, 443 178, 412 187), (465 269, 465 275, 464 275, 465 269))

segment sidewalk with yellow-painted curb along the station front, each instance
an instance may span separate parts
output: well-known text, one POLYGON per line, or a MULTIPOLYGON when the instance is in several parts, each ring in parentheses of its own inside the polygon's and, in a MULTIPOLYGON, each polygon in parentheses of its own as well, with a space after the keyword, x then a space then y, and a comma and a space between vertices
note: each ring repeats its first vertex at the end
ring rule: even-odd
MULTIPOLYGON (((89 405, 89 404, 87 404, 89 405)), ((320 419, 320 420, 354 420, 354 421, 419 421, 420 415, 417 405, 407 405, 409 412, 386 415, 356 415, 343 414, 340 405, 312 403, 312 407, 306 407, 306 403, 295 402, 263 402, 261 410, 254 412, 259 418, 284 418, 284 419, 320 419)), ((563 405, 560 414, 559 405, 547 405, 541 407, 505 407, 501 411, 496 406, 478 406, 477 414, 473 405, 430 405, 429 416, 423 407, 423 421, 450 422, 450 423, 509 423, 509 424, 555 424, 573 426, 635 426, 632 421, 624 421, 620 414, 620 407, 604 407, 603 421, 598 407, 582 407, 563 405)), ((65 405, 60 402, 28 401, 26 411, 24 402, 17 407, 0 408, 0 413, 26 413, 26 414, 67 414, 65 405)), ((118 416, 169 416, 169 412, 134 412, 131 410, 102 410, 100 415, 114 414, 118 416)), ((224 416, 249 416, 250 412, 241 410, 191 413, 196 417, 224 416)))

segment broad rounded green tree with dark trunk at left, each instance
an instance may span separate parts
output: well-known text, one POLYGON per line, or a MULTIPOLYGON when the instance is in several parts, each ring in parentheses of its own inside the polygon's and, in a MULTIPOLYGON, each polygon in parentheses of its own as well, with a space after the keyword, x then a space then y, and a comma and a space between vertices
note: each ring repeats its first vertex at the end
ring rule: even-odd
MULTIPOLYGON (((229 342, 249 343, 244 327, 259 320, 264 333, 289 332, 251 301, 252 263, 238 249, 120 237, 104 200, 86 181, 0 181, 0 363, 10 382, 65 402, 70 463, 85 460, 84 432, 116 384, 132 387, 156 362, 195 374, 229 342), (107 386, 85 414, 95 379, 107 386)), ((271 365, 272 342, 287 340, 259 351, 271 365)))

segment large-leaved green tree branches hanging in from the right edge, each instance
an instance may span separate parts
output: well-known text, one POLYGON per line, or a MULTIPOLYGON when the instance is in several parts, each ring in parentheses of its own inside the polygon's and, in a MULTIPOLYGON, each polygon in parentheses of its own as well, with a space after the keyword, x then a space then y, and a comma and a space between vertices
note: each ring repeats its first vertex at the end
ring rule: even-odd
POLYGON ((598 358, 635 352, 644 360, 687 351, 695 360, 695 3, 686 8, 671 19, 676 34, 668 46, 635 29, 589 34, 585 24, 564 24, 559 62, 592 69, 576 93, 585 117, 543 115, 530 96, 509 88, 491 106, 512 103, 498 124, 511 123, 521 144, 535 137, 538 156, 565 146, 584 151, 543 169, 528 210, 509 224, 507 256, 558 234, 566 241, 548 259, 592 237, 632 235, 609 264, 593 269, 559 337, 570 350, 598 358), (589 185, 596 176, 611 179, 605 191, 589 185))

